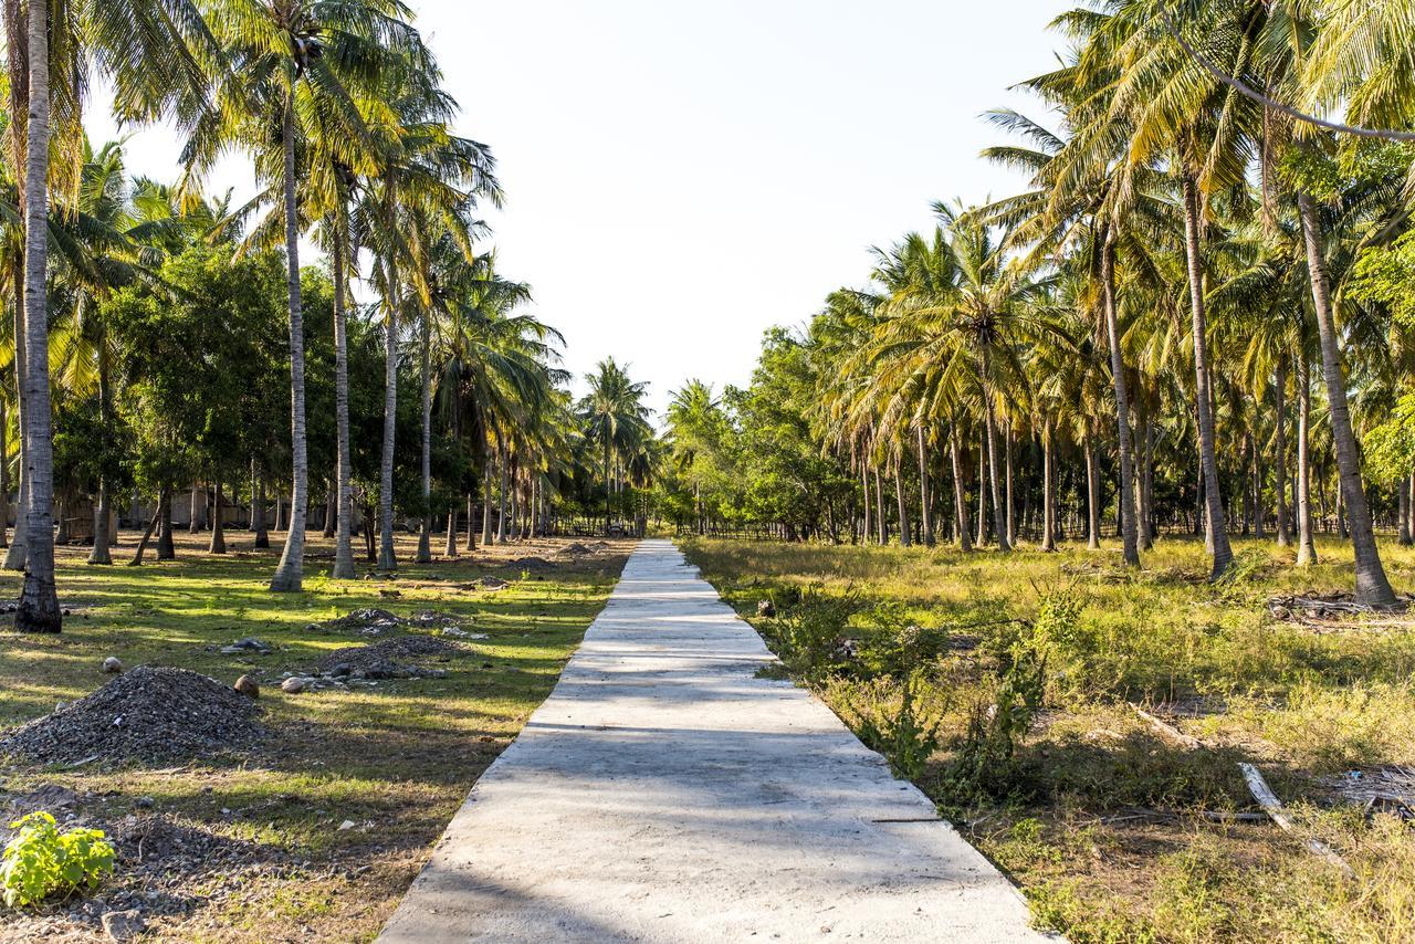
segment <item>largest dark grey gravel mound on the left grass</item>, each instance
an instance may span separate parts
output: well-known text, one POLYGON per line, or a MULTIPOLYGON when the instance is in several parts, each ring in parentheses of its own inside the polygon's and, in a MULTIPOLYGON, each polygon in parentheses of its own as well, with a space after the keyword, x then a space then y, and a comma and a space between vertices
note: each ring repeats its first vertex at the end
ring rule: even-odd
POLYGON ((103 688, 0 737, 0 756, 41 763, 184 760, 262 736, 258 708, 183 668, 140 665, 103 688))

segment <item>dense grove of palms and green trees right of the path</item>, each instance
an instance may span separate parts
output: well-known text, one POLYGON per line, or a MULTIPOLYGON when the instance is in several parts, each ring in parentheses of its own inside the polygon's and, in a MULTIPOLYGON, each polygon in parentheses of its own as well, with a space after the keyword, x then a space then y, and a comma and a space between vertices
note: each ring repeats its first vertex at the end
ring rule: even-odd
POLYGON ((985 160, 1027 187, 937 204, 747 389, 669 412, 679 521, 1043 551, 1115 528, 1330 528, 1357 597, 1415 501, 1415 18, 1397 0, 1099 0, 1053 23, 985 160), (1327 120, 1346 109, 1348 125, 1327 120))

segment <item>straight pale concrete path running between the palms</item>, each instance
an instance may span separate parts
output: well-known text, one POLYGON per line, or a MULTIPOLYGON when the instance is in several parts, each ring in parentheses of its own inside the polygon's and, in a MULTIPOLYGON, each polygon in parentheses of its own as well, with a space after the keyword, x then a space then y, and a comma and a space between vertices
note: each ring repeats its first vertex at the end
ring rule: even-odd
POLYGON ((642 542, 379 940, 1044 940, 828 708, 753 677, 770 661, 672 543, 642 542))

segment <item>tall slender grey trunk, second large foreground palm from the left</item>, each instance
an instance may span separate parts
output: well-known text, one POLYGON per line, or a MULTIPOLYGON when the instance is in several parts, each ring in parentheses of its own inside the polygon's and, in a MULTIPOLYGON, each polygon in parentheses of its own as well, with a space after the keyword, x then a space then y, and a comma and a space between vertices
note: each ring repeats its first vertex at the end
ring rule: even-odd
POLYGON ((284 105, 284 258, 290 296, 290 529, 270 579, 275 592, 300 590, 304 577, 304 522, 310 511, 310 466, 304 437, 304 314, 300 303, 300 215, 294 198, 294 99, 284 105))

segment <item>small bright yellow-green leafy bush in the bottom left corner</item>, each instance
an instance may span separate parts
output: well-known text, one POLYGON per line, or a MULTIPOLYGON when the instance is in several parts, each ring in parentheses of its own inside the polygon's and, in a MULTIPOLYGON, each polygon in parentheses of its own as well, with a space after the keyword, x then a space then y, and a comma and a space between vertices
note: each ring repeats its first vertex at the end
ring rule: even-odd
POLYGON ((0 859, 0 889, 8 907, 38 904, 58 893, 96 889, 113 873, 113 846, 99 829, 59 832, 47 812, 10 824, 20 835, 4 848, 0 859))

